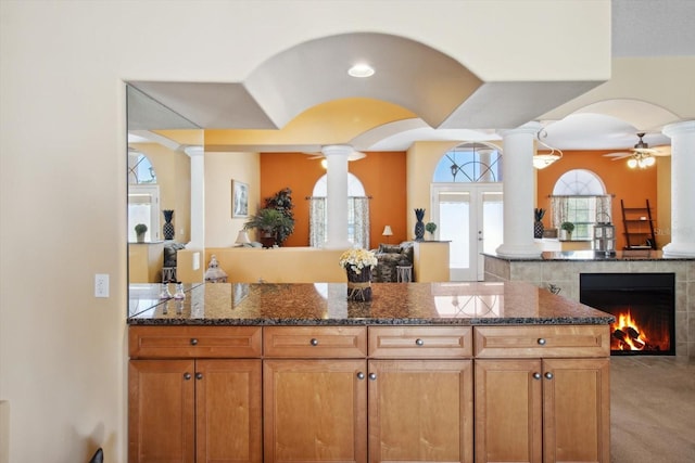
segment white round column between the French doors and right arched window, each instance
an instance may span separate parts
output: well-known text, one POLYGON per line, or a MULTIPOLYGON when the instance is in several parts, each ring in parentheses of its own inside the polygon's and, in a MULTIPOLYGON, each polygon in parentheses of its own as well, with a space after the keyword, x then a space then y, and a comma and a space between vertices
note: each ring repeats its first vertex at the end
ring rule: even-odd
POLYGON ((504 194, 503 242, 497 255, 509 258, 541 257, 533 241, 533 154, 539 123, 501 132, 504 146, 502 192, 504 194))

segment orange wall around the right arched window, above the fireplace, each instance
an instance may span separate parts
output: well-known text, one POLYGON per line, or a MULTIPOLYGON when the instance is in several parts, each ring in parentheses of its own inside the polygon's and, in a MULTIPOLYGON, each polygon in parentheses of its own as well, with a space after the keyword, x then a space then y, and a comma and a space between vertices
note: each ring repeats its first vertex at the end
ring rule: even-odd
MULTIPOLYGON (((652 206, 652 217, 656 219, 657 205, 657 169, 660 158, 654 167, 646 169, 631 169, 627 159, 612 160, 604 154, 612 151, 569 151, 564 152, 563 158, 555 164, 538 171, 538 203, 536 207, 548 210, 543 219, 545 227, 549 227, 551 198, 555 182, 563 173, 572 169, 586 169, 596 173, 606 187, 606 193, 612 197, 612 223, 616 226, 616 249, 622 249, 626 245, 623 236, 622 214, 620 200, 626 207, 643 207, 646 200, 652 206)), ((658 227, 658 223, 656 224, 658 227)))

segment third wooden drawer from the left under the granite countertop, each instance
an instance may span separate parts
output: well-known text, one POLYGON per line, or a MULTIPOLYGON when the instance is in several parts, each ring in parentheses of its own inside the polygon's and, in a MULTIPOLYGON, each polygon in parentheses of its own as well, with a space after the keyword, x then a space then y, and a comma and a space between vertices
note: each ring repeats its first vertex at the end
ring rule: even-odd
POLYGON ((469 326, 370 326, 369 357, 465 358, 472 356, 469 326))

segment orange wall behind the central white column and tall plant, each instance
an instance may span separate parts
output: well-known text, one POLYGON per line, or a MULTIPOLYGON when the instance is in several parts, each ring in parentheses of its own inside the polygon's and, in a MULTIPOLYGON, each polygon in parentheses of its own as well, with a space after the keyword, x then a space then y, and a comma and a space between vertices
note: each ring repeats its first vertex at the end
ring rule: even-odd
MULTIPOLYGON (((326 173, 320 159, 311 159, 304 153, 263 153, 261 154, 261 204, 264 198, 274 195, 283 188, 292 190, 294 202, 294 233, 285 246, 308 245, 308 202, 314 184, 326 173)), ((376 248, 386 242, 381 235, 384 226, 391 226, 393 236, 389 243, 409 240, 406 227, 405 198, 405 153, 379 152, 367 153, 367 157, 351 162, 350 172, 362 181, 369 203, 371 228, 369 248, 376 248)))

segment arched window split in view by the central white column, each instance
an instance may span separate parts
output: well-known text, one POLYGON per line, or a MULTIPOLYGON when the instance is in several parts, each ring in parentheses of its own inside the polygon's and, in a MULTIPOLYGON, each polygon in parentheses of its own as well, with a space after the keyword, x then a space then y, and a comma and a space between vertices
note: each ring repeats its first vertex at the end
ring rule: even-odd
MULTIPOLYGON (((309 198, 309 245, 320 247, 328 236, 326 196, 328 176, 324 175, 314 184, 309 198)), ((354 173, 348 172, 348 240, 361 247, 369 247, 369 198, 365 188, 354 173)))

